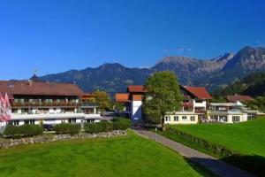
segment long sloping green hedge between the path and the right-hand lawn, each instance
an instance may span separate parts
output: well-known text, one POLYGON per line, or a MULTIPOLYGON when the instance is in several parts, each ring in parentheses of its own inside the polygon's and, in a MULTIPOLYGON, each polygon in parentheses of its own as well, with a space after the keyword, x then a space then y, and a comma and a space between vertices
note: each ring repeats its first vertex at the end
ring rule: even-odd
POLYGON ((193 142, 197 146, 200 146, 203 149, 209 150, 210 152, 212 152, 213 154, 221 158, 231 157, 232 155, 239 154, 239 152, 229 150, 225 146, 222 146, 222 145, 219 145, 213 142, 208 142, 204 139, 195 137, 193 135, 186 134, 185 132, 179 131, 176 128, 166 126, 165 133, 170 134, 170 135, 177 135, 179 138, 185 139, 188 142, 193 142))

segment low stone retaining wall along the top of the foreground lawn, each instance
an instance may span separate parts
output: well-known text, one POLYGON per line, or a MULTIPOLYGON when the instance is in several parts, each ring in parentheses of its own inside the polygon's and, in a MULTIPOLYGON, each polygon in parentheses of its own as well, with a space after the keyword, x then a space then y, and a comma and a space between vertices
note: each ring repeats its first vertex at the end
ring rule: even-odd
POLYGON ((0 149, 3 148, 7 149, 20 144, 57 142, 57 141, 72 140, 72 139, 110 138, 119 135, 127 135, 126 130, 113 130, 111 132, 102 132, 99 134, 80 133, 79 135, 40 135, 34 137, 24 137, 19 139, 5 139, 3 142, 0 142, 0 149))

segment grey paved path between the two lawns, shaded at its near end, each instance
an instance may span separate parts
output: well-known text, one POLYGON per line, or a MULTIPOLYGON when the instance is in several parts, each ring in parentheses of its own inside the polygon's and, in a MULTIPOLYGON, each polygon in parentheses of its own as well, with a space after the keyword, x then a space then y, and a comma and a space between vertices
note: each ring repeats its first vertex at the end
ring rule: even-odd
POLYGON ((221 160, 208 156, 207 154, 201 153, 198 150, 193 150, 181 143, 174 142, 162 135, 155 135, 155 133, 153 132, 141 129, 134 131, 143 137, 150 138, 156 142, 162 143, 163 145, 169 147, 172 150, 178 151, 180 155, 205 166, 209 171, 216 173, 218 176, 225 176, 225 177, 254 176, 253 174, 247 173, 246 171, 243 171, 236 166, 229 165, 221 160))

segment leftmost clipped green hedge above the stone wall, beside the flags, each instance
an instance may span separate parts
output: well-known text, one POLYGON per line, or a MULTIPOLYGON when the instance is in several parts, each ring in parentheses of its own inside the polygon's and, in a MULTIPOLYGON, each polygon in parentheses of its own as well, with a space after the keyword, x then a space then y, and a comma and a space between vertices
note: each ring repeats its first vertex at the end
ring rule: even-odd
POLYGON ((8 125, 4 129, 4 135, 8 137, 42 135, 42 133, 43 133, 43 128, 38 125, 28 125, 28 124, 22 126, 8 125))

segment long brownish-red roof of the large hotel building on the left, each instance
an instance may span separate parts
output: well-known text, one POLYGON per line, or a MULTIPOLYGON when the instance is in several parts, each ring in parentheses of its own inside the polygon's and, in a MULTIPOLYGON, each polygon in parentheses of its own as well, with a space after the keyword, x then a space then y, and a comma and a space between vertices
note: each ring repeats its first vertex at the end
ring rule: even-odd
POLYGON ((51 83, 35 81, 0 81, 0 92, 31 96, 82 96, 84 92, 71 83, 51 83))

